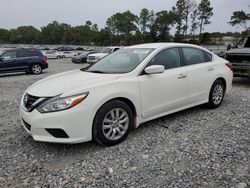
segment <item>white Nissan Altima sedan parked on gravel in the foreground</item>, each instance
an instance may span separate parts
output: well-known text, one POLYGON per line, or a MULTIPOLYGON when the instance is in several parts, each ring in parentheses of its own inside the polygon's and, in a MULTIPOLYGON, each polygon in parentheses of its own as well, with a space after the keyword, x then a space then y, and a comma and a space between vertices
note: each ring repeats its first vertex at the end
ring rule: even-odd
POLYGON ((232 87, 231 64, 195 45, 126 47, 87 70, 31 85, 20 113, 37 141, 115 145, 141 123, 196 105, 217 108, 232 87))

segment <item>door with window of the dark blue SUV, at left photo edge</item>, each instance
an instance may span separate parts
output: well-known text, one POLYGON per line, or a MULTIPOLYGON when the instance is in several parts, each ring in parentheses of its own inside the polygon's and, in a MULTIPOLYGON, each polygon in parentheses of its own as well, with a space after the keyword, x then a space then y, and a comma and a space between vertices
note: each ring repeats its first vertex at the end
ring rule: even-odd
POLYGON ((18 69, 18 66, 16 64, 16 52, 8 51, 3 53, 1 55, 0 71, 9 72, 15 69, 18 69))

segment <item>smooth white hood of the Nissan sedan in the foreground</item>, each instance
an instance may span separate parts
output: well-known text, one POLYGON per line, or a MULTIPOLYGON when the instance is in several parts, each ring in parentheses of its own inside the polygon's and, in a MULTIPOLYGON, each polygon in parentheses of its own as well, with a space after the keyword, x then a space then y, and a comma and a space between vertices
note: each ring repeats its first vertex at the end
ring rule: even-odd
POLYGON ((32 84, 27 93, 38 97, 52 97, 73 91, 85 91, 91 86, 116 79, 116 74, 98 74, 81 70, 68 71, 32 84))

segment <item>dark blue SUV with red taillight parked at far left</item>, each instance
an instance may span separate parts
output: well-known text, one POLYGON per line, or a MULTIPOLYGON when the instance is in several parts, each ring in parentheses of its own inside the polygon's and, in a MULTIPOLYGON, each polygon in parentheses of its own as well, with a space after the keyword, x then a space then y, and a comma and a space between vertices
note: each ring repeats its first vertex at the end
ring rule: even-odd
POLYGON ((0 73, 24 71, 40 74, 46 68, 47 58, 39 50, 12 49, 0 52, 0 73))

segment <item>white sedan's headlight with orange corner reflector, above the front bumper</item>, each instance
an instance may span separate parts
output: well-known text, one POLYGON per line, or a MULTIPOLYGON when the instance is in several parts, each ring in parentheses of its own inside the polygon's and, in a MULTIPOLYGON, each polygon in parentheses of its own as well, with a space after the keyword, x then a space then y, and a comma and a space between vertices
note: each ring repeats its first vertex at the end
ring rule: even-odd
POLYGON ((63 97, 63 98, 60 98, 60 96, 57 96, 57 97, 47 100, 45 103, 42 103, 37 108, 37 110, 41 113, 66 110, 82 102, 88 96, 88 94, 89 93, 87 92, 87 93, 72 95, 72 96, 63 97))

